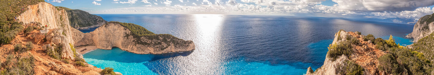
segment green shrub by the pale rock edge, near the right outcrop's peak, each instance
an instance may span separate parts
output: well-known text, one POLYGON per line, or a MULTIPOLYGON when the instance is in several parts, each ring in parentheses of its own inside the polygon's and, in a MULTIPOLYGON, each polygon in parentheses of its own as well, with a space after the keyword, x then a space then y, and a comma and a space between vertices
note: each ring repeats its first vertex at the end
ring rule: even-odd
POLYGON ((331 58, 332 61, 335 61, 339 56, 345 55, 347 57, 352 53, 352 46, 350 41, 342 41, 338 44, 330 44, 329 52, 327 57, 331 58))

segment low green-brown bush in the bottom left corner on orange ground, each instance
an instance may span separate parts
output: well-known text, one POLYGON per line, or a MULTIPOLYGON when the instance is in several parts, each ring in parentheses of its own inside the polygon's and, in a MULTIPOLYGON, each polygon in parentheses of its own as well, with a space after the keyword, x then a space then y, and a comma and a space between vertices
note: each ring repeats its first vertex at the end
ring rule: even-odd
POLYGON ((34 62, 33 55, 16 57, 10 54, 6 57, 6 61, 2 63, 3 70, 0 71, 0 75, 33 75, 34 62))

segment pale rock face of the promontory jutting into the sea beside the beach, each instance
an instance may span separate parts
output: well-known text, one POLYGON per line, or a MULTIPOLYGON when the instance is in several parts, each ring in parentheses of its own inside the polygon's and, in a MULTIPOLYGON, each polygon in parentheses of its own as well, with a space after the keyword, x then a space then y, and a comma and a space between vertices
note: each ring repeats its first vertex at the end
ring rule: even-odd
POLYGON ((170 34, 135 36, 128 29, 116 22, 105 25, 89 33, 75 33, 74 46, 95 45, 99 49, 111 50, 119 47, 138 54, 162 54, 191 51, 195 49, 193 41, 185 41, 170 34))

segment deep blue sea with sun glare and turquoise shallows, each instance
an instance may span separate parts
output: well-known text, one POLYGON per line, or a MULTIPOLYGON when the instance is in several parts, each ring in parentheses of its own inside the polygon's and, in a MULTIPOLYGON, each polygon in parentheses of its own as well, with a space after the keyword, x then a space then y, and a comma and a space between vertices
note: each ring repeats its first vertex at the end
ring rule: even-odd
MULTIPOLYGON (((322 66, 340 29, 361 31, 401 45, 413 25, 294 16, 209 14, 96 14, 107 21, 141 25, 156 34, 194 41, 196 50, 161 55, 119 48, 95 50, 85 60, 124 75, 302 75, 322 66)), ((81 30, 93 31, 95 28, 81 30)))

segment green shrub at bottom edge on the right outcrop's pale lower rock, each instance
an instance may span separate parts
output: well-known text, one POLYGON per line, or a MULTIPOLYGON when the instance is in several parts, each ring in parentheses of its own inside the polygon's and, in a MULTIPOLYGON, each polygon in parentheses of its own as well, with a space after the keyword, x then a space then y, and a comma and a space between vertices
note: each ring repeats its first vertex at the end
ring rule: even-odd
POLYGON ((363 75, 364 69, 357 63, 351 60, 345 60, 345 62, 335 69, 336 73, 341 75, 363 75))

